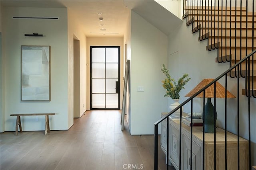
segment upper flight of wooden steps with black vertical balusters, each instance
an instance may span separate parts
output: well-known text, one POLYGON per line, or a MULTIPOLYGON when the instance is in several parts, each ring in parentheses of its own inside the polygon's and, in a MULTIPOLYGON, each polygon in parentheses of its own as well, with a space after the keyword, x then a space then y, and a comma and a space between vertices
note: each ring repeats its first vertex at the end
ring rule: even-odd
MULTIPOLYGON (((183 18, 186 18, 187 25, 192 25, 192 33, 200 32, 198 41, 208 41, 206 50, 218 50, 216 63, 229 63, 231 67, 256 49, 254 1, 184 0, 183 5, 183 18), (243 5, 250 6, 252 11, 243 5)), ((229 74, 232 78, 245 78, 242 95, 254 98, 255 63, 252 56, 229 74)))

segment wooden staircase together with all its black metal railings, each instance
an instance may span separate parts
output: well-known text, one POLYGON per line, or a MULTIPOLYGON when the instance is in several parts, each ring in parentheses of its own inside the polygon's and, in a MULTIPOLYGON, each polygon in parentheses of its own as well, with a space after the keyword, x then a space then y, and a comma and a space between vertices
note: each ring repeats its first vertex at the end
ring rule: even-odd
MULTIPOLYGON (((240 78, 245 82, 245 94, 248 97, 248 141, 249 141, 249 160, 248 168, 252 167, 251 156, 251 99, 256 98, 256 89, 254 89, 256 70, 254 70, 254 55, 256 53, 256 47, 254 47, 254 0, 230 0, 229 3, 225 2, 223 6, 223 0, 214 0, 214 6, 212 6, 212 0, 183 0, 183 18, 186 18, 186 25, 192 24, 192 33, 199 31, 198 41, 204 41, 207 39, 208 44, 206 50, 218 49, 218 55, 216 62, 226 63, 230 62, 230 68, 218 76, 214 81, 205 86, 202 90, 198 91, 192 97, 188 98, 185 102, 172 110, 165 117, 154 123, 154 169, 158 168, 158 124, 164 119, 167 119, 167 144, 169 143, 169 119, 175 111, 182 106, 191 102, 191 113, 193 113, 193 99, 203 92, 205 96, 205 90, 212 84, 216 88, 217 80, 221 78, 225 79, 225 95, 227 95, 228 81, 227 77, 237 79, 237 167, 240 169, 240 78), (211 2, 210 2, 211 1, 211 2), (251 4, 248 4, 251 3, 251 4), (242 7, 245 6, 245 7, 242 7), (248 6, 252 7, 252 13, 248 14, 248 6), (228 14, 229 13, 229 14, 228 14), (244 17, 244 13, 246 16, 244 17), (229 16, 229 18, 228 18, 229 16), (245 26, 244 26, 245 24, 245 26), (250 32, 251 31, 251 32, 250 32), (245 35, 244 35, 245 32, 245 35), (229 37, 229 40, 228 40, 229 37), (233 40, 232 40, 233 39, 233 40), (251 39, 251 41, 250 41, 251 39), (245 45, 244 45, 245 41, 245 45), (251 53, 250 53, 251 52, 251 53), (249 55, 247 55, 250 53, 249 55), (245 56, 245 57, 243 57, 245 56)), ((255 22, 255 23, 254 23, 255 22)), ((215 94, 215 92, 214 92, 215 94)), ((205 105, 205 98, 203 98, 203 110, 205 105)), ((216 97, 214 97, 214 109, 216 107, 216 97)), ((225 169, 228 169, 227 158, 227 98, 225 97, 225 169)), ((204 113, 203 113, 204 114, 204 113)), ((180 129, 182 129, 182 116, 180 109, 180 129)), ((214 124, 215 126, 215 124, 214 124)), ((190 169, 192 170, 192 126, 190 136, 190 169)), ((180 130, 180 139, 181 139, 180 130)), ((204 126, 203 126, 203 151, 202 151, 202 169, 204 170, 204 126)), ((179 144, 179 167, 182 167, 181 158, 181 140, 179 144)), ((169 158, 169 146, 167 145, 167 160, 169 158)), ((216 131, 214 132, 214 170, 216 170, 216 131)), ((168 169, 168 164, 167 164, 168 169)))

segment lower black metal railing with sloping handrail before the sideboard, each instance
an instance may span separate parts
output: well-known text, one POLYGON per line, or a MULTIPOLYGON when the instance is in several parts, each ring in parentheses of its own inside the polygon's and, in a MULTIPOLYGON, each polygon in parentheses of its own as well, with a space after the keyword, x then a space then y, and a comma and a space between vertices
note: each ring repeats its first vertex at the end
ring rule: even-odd
MULTIPOLYGON (((232 70, 234 70, 234 68, 237 68, 239 70, 239 67, 240 67, 240 64, 244 63, 244 62, 248 62, 251 60, 251 57, 256 53, 256 50, 252 51, 249 55, 247 55, 246 57, 244 57, 242 60, 240 60, 238 63, 236 63, 234 66, 232 66, 231 68, 229 68, 228 70, 226 70, 224 73, 222 73, 220 76, 218 76, 216 79, 214 79, 212 82, 210 82, 208 85, 206 85, 204 88, 202 88, 201 90, 199 90, 197 93, 195 93, 192 97, 188 98, 187 100, 185 100, 182 104, 180 104, 178 107, 176 107, 175 109, 173 109, 172 111, 170 111, 166 116, 162 117, 160 120, 156 121, 154 123, 154 169, 157 170, 158 169, 158 125, 164 121, 164 119, 167 119, 167 159, 169 158, 168 155, 169 155, 169 119, 168 117, 170 115, 172 115, 175 111, 177 111, 178 109, 180 109, 180 129, 182 129, 182 109, 181 107, 186 105, 188 102, 191 102, 191 114, 193 114, 193 107, 192 107, 192 104, 193 104, 193 99, 200 93, 203 93, 203 110, 204 110, 204 105, 205 105, 205 90, 210 87, 212 84, 214 84, 214 110, 216 110, 216 82, 218 80, 220 80, 221 78, 225 78, 225 108, 224 108, 224 112, 225 112, 225 170, 228 169, 228 164, 227 164, 227 86, 228 86, 228 81, 227 81, 227 77, 228 77, 228 74, 230 74, 230 72, 232 70)), ((239 96, 239 77, 237 77, 237 88, 238 88, 238 91, 237 91, 237 96, 239 96)), ((251 156, 251 146, 250 146, 250 143, 251 143, 251 139, 250 139, 250 136, 251 136, 251 133, 250 133, 250 98, 248 98, 248 115, 249 115, 249 125, 248 125, 248 142, 249 142, 249 165, 248 165, 248 169, 250 169, 250 167, 252 167, 252 163, 251 163, 251 159, 252 159, 252 156, 251 156)), ((237 106, 237 114, 238 114, 238 153, 239 153, 239 137, 240 137, 240 134, 239 134, 239 97, 238 97, 238 106, 237 106)), ((204 112, 203 112, 204 114, 204 112)), ((193 115, 191 115, 192 117, 193 115)), ((204 121, 203 121, 203 124, 204 124, 204 121)), ((215 123, 214 123, 214 126, 215 123)), ((193 167, 193 162, 192 162, 192 128, 193 126, 190 127, 191 128, 191 136, 190 136, 190 142, 191 142, 191 146, 190 146, 190 170, 192 170, 192 167, 193 167)), ((204 166, 204 142, 205 142, 205 139, 204 139, 204 126, 203 126, 203 151, 202 151, 202 170, 205 169, 205 166, 204 166)), ((179 139, 182 139, 181 138, 181 130, 180 130, 180 138, 179 139)), ((182 158, 181 158, 181 140, 179 141, 179 167, 182 167, 181 164, 182 164, 182 158)), ((239 154, 238 154, 238 161, 237 161, 237 167, 238 167, 238 170, 240 169, 240 158, 239 158, 239 154)), ((167 160, 168 162, 168 160, 167 160)), ((167 163, 167 167, 166 169, 168 170, 168 163, 167 163)), ((216 129, 214 131, 214 170, 216 170, 216 129)))

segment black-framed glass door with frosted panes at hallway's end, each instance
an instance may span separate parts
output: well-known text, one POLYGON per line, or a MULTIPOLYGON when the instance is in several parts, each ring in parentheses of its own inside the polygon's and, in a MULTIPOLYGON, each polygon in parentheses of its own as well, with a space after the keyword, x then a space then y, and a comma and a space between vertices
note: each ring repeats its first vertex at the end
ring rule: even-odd
POLYGON ((120 109, 120 47, 90 47, 90 107, 120 109))

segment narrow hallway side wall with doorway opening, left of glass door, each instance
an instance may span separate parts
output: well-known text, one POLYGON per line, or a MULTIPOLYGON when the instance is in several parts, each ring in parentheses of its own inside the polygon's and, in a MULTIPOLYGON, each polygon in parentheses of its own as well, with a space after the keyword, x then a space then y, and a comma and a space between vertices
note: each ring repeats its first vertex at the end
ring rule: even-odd
POLYGON ((86 36, 83 31, 83 28, 80 26, 79 21, 76 20, 76 16, 74 15, 74 12, 71 10, 68 10, 68 96, 69 96, 69 109, 68 109, 68 127, 71 127, 73 125, 73 116, 74 117, 81 117, 83 113, 86 111, 86 36), (79 73, 78 79, 79 79, 79 96, 75 96, 75 98, 78 98, 76 102, 78 102, 77 106, 77 113, 74 115, 74 37, 79 40, 79 46, 80 46, 80 59, 78 61, 79 65, 79 73))

